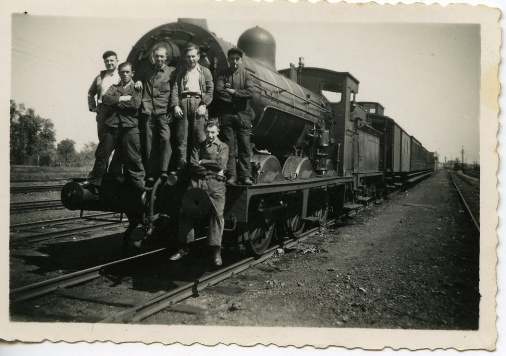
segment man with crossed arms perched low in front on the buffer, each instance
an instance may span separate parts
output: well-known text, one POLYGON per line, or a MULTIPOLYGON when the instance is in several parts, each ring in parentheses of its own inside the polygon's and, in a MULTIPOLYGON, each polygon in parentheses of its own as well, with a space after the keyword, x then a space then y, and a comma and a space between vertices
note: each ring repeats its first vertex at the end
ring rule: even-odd
MULTIPOLYGON (((220 125, 214 120, 204 124, 205 141, 193 148, 188 168, 191 174, 190 188, 207 192, 211 206, 208 214, 207 245, 212 250, 213 264, 221 266, 221 241, 225 220, 225 174, 228 146, 218 138, 220 125)), ((193 219, 182 210, 179 216, 179 238, 181 247, 171 257, 175 261, 188 254, 188 243, 195 240, 193 219)))

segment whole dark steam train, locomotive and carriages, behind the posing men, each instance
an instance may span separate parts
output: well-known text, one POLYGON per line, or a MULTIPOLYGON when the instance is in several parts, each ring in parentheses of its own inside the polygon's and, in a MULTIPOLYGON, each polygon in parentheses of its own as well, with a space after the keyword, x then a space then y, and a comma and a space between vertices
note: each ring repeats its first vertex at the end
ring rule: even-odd
MULTIPOLYGON (((152 49, 163 46, 167 64, 178 66, 190 42, 199 46, 199 63, 213 76, 228 66, 227 51, 233 46, 210 32, 205 20, 194 19, 149 31, 127 61, 140 73, 152 65, 152 49)), ((227 185, 224 243, 260 255, 280 229, 300 236, 308 226, 324 224, 328 214, 351 212, 404 180, 434 170, 434 156, 384 116, 381 104, 355 101, 359 81, 350 73, 305 67, 302 58, 298 68, 290 64, 278 71, 274 38, 260 27, 246 30, 237 47, 256 81, 250 100, 256 115, 251 134, 255 184, 227 185)), ((79 181, 63 187, 64 206, 125 213, 130 222, 125 246, 139 224, 147 239, 154 233, 166 237, 177 233, 180 209, 198 219, 209 207, 207 193, 186 190, 184 171, 168 184, 157 180, 142 195, 106 177, 96 197, 79 181)))

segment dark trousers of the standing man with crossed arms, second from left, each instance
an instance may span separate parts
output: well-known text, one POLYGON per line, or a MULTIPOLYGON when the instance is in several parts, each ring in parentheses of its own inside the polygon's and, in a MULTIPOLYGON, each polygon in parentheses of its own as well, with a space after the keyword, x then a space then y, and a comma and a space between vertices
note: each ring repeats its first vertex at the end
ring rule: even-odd
POLYGON ((143 187, 145 172, 141 159, 139 129, 121 125, 117 128, 106 126, 102 130, 102 138, 95 151, 95 164, 88 175, 88 181, 95 185, 102 184, 109 156, 115 147, 121 152, 121 159, 131 183, 137 188, 143 187))

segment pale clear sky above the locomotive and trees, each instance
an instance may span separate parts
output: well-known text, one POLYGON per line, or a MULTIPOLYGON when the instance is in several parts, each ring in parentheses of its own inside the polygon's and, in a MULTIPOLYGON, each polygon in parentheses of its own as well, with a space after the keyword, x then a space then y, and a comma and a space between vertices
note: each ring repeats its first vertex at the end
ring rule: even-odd
POLYGON ((480 160, 478 24, 286 15, 274 21, 260 11, 241 21, 234 12, 206 16, 205 11, 181 10, 162 19, 100 14, 13 14, 11 98, 51 118, 57 142, 72 139, 78 150, 97 142, 95 115, 88 111, 86 97, 103 69, 103 52, 114 50, 119 61, 125 60, 150 29, 193 15, 207 18, 208 28, 233 44, 248 28, 264 27, 276 40, 277 69, 304 57, 306 66, 348 71, 360 81, 358 101, 382 103, 386 115, 428 150, 438 151, 441 161, 460 157, 462 146, 467 163, 480 160))

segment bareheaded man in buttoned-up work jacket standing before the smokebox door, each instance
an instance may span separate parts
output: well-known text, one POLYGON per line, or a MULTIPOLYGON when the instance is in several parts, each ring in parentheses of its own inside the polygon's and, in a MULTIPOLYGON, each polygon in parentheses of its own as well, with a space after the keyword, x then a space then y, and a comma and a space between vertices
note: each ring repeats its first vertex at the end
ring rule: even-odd
POLYGON ((156 47, 152 51, 154 65, 148 67, 135 83, 136 90, 142 93, 141 131, 143 135, 143 154, 146 174, 149 178, 166 177, 171 160, 172 113, 168 103, 175 69, 168 66, 167 50, 156 47))

